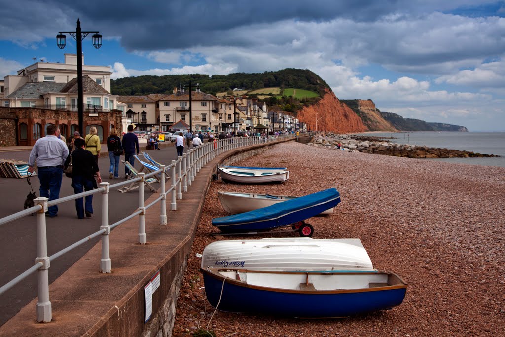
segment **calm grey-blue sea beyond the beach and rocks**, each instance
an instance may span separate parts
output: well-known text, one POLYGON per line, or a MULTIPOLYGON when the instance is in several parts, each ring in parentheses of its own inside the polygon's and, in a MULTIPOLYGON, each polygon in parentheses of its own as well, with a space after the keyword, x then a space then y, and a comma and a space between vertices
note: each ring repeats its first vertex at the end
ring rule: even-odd
POLYGON ((471 151, 487 155, 497 155, 493 158, 437 158, 425 159, 460 163, 469 165, 505 167, 505 131, 500 132, 447 132, 447 131, 416 131, 416 132, 367 132, 363 136, 382 138, 385 141, 399 144, 424 145, 430 148, 447 148, 460 151, 471 151))

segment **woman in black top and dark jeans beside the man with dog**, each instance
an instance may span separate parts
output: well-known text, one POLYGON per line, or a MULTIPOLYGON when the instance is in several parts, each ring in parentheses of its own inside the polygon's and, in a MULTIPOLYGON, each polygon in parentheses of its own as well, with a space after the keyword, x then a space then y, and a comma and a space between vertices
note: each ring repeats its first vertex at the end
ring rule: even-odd
MULTIPOLYGON (((67 166, 70 164, 70 160, 72 160, 72 187, 74 187, 75 194, 98 188, 96 182, 102 182, 98 165, 91 152, 84 150, 84 144, 84 139, 75 139, 74 145, 76 150, 72 152, 65 161, 66 170, 67 166), (96 180, 93 174, 96 174, 96 180)), ((92 202, 93 196, 87 196, 86 204, 83 207, 82 198, 76 199, 75 209, 77 210, 77 217, 79 219, 84 218, 84 213, 88 218, 91 217, 91 214, 93 214, 92 202)))

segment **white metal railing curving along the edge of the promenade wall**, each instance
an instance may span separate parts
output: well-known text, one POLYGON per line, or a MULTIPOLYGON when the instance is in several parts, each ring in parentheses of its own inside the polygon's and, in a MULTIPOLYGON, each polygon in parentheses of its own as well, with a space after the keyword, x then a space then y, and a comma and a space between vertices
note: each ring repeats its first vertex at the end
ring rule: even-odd
POLYGON ((37 302, 37 321, 38 322, 49 322, 52 319, 52 307, 49 301, 49 279, 48 279, 48 269, 51 265, 51 261, 57 259, 63 254, 71 251, 72 249, 88 242, 94 237, 102 235, 102 255, 100 258, 100 269, 102 273, 110 273, 112 270, 112 261, 109 251, 109 234, 111 230, 120 224, 136 217, 138 215, 138 242, 144 245, 147 242, 147 234, 145 232, 145 214, 147 210, 157 203, 160 205, 160 224, 167 224, 167 205, 166 198, 170 195, 170 210, 175 211, 177 209, 176 200, 182 200, 183 192, 187 192, 188 186, 195 179, 196 174, 204 167, 208 162, 213 160, 216 156, 219 156, 230 150, 234 150, 241 147, 247 147, 251 145, 262 145, 271 141, 293 138, 293 134, 276 135, 276 136, 264 136, 264 137, 235 137, 227 138, 221 140, 215 140, 213 142, 207 142, 203 145, 193 148, 186 152, 183 156, 179 156, 177 160, 173 160, 168 166, 161 165, 160 169, 150 173, 139 172, 137 177, 129 180, 125 180, 116 184, 110 184, 109 182, 101 182, 100 187, 90 191, 85 191, 76 195, 63 197, 60 199, 48 201, 47 198, 37 198, 34 200, 35 206, 27 208, 26 210, 8 215, 0 219, 0 225, 6 224, 8 222, 20 219, 32 213, 36 213, 36 223, 37 223, 37 258, 35 259, 35 264, 28 268, 26 271, 0 287, 0 295, 7 292, 14 285, 22 281, 27 276, 31 275, 35 271, 38 271, 37 283, 38 283, 38 302, 37 302), (166 179, 165 173, 170 170, 170 187, 166 189, 166 179), (145 205, 144 201, 144 181, 146 178, 159 175, 160 176, 160 196, 148 204, 145 205), (126 216, 125 218, 110 224, 109 223, 109 192, 111 188, 122 187, 123 185, 130 184, 132 182, 138 182, 138 208, 126 216), (100 219, 101 226, 100 230, 88 235, 78 242, 64 248, 63 250, 47 256, 47 237, 46 237, 46 226, 45 226, 45 213, 49 206, 54 206, 76 200, 79 198, 84 198, 86 196, 91 196, 95 194, 102 195, 102 216, 100 219))

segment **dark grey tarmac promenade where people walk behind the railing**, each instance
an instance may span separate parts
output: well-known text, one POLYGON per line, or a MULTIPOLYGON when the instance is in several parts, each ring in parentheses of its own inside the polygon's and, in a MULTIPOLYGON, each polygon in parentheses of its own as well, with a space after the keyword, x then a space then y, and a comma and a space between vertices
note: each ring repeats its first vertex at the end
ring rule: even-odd
MULTIPOLYGON (((102 145, 104 148, 104 145, 102 145)), ((145 148, 145 147, 144 147, 145 148)), ((107 149, 107 147, 105 147, 107 149)), ((174 143, 164 143, 162 151, 148 151, 148 153, 158 162, 169 165, 177 158, 174 143)), ((185 149, 187 150, 187 149, 185 149)), ((141 150, 142 151, 142 150, 141 150)), ((0 158, 17 159, 28 161, 29 151, 2 152, 0 158)), ((141 157, 142 158, 142 157, 141 157)), ((124 156, 121 156, 124 160, 124 156)), ((109 179, 110 160, 108 153, 103 154, 98 159, 100 175, 103 181, 111 184, 124 180, 124 165, 119 168, 119 179, 109 179)), ((135 168, 139 169, 139 164, 135 168)), ((30 178, 33 190, 37 197, 40 196, 39 180, 34 176, 30 178)), ((63 176, 60 197, 74 194, 70 186, 71 179, 63 176)), ((155 188, 159 184, 155 183, 155 188)), ((26 179, 0 178, 0 218, 23 210, 26 195, 30 191, 30 186, 26 179)), ((151 191, 145 188, 145 199, 152 195, 151 191)), ((47 251, 48 255, 70 246, 78 240, 99 230, 100 205, 99 195, 93 198, 94 214, 91 218, 78 219, 74 201, 60 204, 58 217, 46 218, 47 226, 47 251)), ((128 214, 131 214, 138 207, 138 192, 133 190, 127 193, 120 193, 111 190, 109 193, 109 222, 115 223, 128 214)), ((35 216, 27 216, 16 221, 2 225, 0 228, 0 285, 4 285, 31 266, 35 264, 36 258, 36 222, 35 216)), ((51 261, 49 268, 49 283, 53 282, 77 260, 79 260, 100 237, 90 240, 72 251, 62 255, 58 259, 51 261)), ((111 238, 111 245, 114 245, 114 238, 111 238)), ((96 270, 98 271, 97 264, 96 270)), ((36 273, 28 276, 23 281, 12 287, 6 294, 0 295, 0 325, 14 316, 21 308, 28 304, 37 296, 37 276, 36 273)))

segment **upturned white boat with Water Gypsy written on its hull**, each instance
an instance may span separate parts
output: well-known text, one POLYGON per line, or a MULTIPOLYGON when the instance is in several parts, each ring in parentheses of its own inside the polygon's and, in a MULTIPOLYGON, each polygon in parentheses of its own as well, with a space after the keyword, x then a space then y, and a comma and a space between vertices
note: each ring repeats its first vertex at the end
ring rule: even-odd
POLYGON ((201 268, 264 271, 374 271, 360 239, 263 238, 209 244, 201 268))

